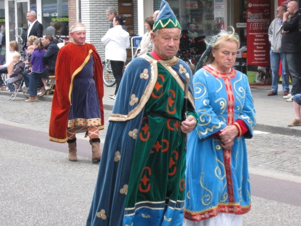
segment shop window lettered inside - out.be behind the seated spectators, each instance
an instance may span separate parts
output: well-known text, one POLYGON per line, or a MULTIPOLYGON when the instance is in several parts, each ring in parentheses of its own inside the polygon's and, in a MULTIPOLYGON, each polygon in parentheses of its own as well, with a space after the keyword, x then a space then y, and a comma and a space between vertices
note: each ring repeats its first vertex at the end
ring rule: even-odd
POLYGON ((42 0, 42 24, 45 35, 56 35, 68 40, 68 0, 42 0))

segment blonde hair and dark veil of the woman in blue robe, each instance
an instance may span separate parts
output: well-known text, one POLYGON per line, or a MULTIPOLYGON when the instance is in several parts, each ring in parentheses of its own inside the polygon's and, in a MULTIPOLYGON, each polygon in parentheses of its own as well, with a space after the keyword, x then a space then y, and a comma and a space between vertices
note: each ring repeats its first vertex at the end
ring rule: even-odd
POLYGON ((211 44, 211 51, 205 64, 212 64, 214 62, 212 49, 214 49, 215 51, 219 50, 225 42, 233 42, 237 45, 237 49, 239 48, 240 42, 237 35, 234 33, 234 29, 231 33, 225 31, 219 33, 219 37, 215 40, 214 43, 211 44))

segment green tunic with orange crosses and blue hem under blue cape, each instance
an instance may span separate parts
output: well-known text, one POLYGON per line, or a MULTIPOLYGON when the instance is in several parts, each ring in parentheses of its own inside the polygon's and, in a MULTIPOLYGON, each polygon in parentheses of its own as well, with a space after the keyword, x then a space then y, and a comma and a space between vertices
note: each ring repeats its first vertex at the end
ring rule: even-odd
MULTIPOLYGON (((135 144, 123 225, 182 225, 187 141, 181 132, 183 103, 183 89, 158 64, 135 144)), ((192 106, 188 115, 198 119, 192 106)))

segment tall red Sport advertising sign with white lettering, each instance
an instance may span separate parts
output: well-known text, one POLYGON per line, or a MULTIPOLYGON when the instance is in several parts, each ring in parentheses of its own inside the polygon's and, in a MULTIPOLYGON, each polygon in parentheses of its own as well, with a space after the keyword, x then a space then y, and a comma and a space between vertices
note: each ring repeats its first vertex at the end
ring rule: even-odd
POLYGON ((270 66, 270 0, 247 0, 248 65, 270 66))

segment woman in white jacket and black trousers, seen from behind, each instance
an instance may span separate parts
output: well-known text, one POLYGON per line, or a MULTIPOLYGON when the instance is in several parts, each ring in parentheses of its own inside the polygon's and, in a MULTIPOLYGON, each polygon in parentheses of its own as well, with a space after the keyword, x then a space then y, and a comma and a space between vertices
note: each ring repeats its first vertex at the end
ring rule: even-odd
POLYGON ((121 16, 115 16, 113 19, 113 28, 109 29, 101 42, 105 45, 105 59, 111 61, 111 68, 116 80, 116 89, 114 95, 110 98, 115 99, 119 84, 122 78, 122 69, 126 61, 126 48, 129 47, 129 34, 122 29, 125 19, 121 16))

